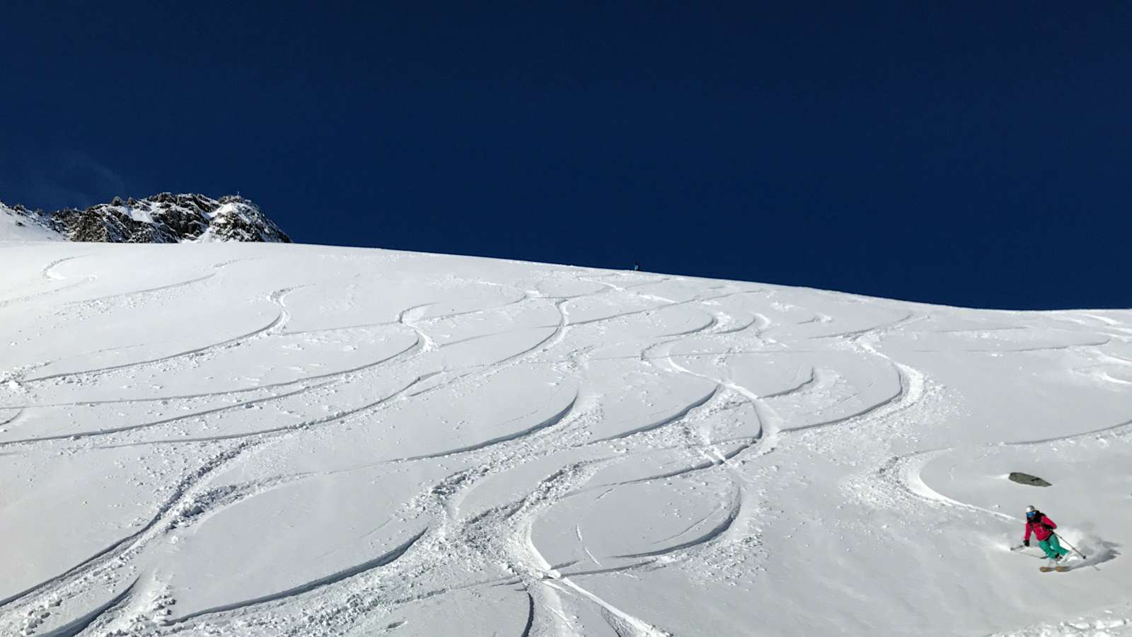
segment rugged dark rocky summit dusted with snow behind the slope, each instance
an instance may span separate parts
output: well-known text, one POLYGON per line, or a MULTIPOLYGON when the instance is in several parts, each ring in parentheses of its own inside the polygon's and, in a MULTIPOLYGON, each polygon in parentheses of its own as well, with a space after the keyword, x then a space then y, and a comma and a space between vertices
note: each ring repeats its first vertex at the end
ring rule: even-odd
POLYGON ((86 210, 44 213, 0 204, 6 238, 63 238, 114 244, 175 244, 180 241, 291 243, 252 202, 238 195, 214 199, 204 195, 161 193, 143 199, 114 197, 86 210), (9 232, 10 230, 10 232, 9 232), (45 230, 45 231, 44 231, 45 230))

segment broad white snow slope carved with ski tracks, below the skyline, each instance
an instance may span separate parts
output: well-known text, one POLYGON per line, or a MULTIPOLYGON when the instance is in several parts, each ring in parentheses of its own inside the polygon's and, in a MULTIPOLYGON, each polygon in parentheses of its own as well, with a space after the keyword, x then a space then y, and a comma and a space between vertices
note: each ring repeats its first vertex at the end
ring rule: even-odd
POLYGON ((1132 634, 1132 312, 0 260, 0 635, 1132 634), (1090 559, 1009 551, 1030 503, 1090 559))

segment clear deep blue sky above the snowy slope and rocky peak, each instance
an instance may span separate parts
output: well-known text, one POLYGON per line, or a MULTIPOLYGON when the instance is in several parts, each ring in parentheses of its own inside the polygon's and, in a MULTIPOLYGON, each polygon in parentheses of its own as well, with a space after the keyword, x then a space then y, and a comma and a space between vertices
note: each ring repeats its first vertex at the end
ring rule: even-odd
POLYGON ((303 243, 1132 306, 1130 2, 12 5, 8 203, 239 190, 303 243))

